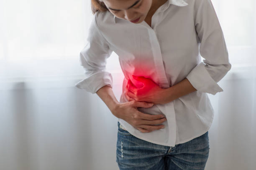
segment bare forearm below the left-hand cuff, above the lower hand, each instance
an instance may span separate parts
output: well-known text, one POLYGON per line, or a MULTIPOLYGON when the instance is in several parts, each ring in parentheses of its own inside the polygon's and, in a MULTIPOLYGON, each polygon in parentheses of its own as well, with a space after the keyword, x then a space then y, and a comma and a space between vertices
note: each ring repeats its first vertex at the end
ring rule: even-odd
POLYGON ((101 87, 96 93, 101 98, 101 100, 105 102, 111 112, 119 104, 118 100, 115 98, 112 88, 108 85, 101 87))

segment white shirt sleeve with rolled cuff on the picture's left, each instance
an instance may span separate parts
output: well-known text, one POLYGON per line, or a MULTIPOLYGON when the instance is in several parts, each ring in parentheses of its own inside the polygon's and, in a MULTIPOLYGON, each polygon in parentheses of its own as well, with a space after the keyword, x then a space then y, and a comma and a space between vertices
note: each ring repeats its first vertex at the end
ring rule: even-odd
POLYGON ((80 65, 84 68, 85 78, 75 84, 79 89, 94 94, 101 87, 113 86, 113 77, 105 70, 106 59, 111 55, 110 45, 97 27, 97 13, 90 23, 87 44, 80 52, 80 65))

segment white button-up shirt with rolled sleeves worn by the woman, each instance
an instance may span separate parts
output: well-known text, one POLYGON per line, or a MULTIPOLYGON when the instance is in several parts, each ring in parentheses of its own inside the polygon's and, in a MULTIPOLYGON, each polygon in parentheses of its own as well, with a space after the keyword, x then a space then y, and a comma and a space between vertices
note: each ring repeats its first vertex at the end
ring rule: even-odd
POLYGON ((186 77, 197 91, 166 104, 138 110, 164 114, 165 127, 141 133, 118 118, 129 133, 159 145, 174 146, 206 133, 214 110, 207 93, 223 89, 217 84, 231 69, 223 32, 211 0, 168 0, 156 10, 151 27, 116 18, 109 11, 95 13, 88 43, 80 52, 85 79, 76 87, 95 93, 112 87, 112 75, 105 70, 106 58, 114 51, 123 70, 120 102, 128 102, 124 87, 131 75, 151 78, 161 88, 171 87, 186 77), (201 56, 204 58, 201 61, 201 56))

